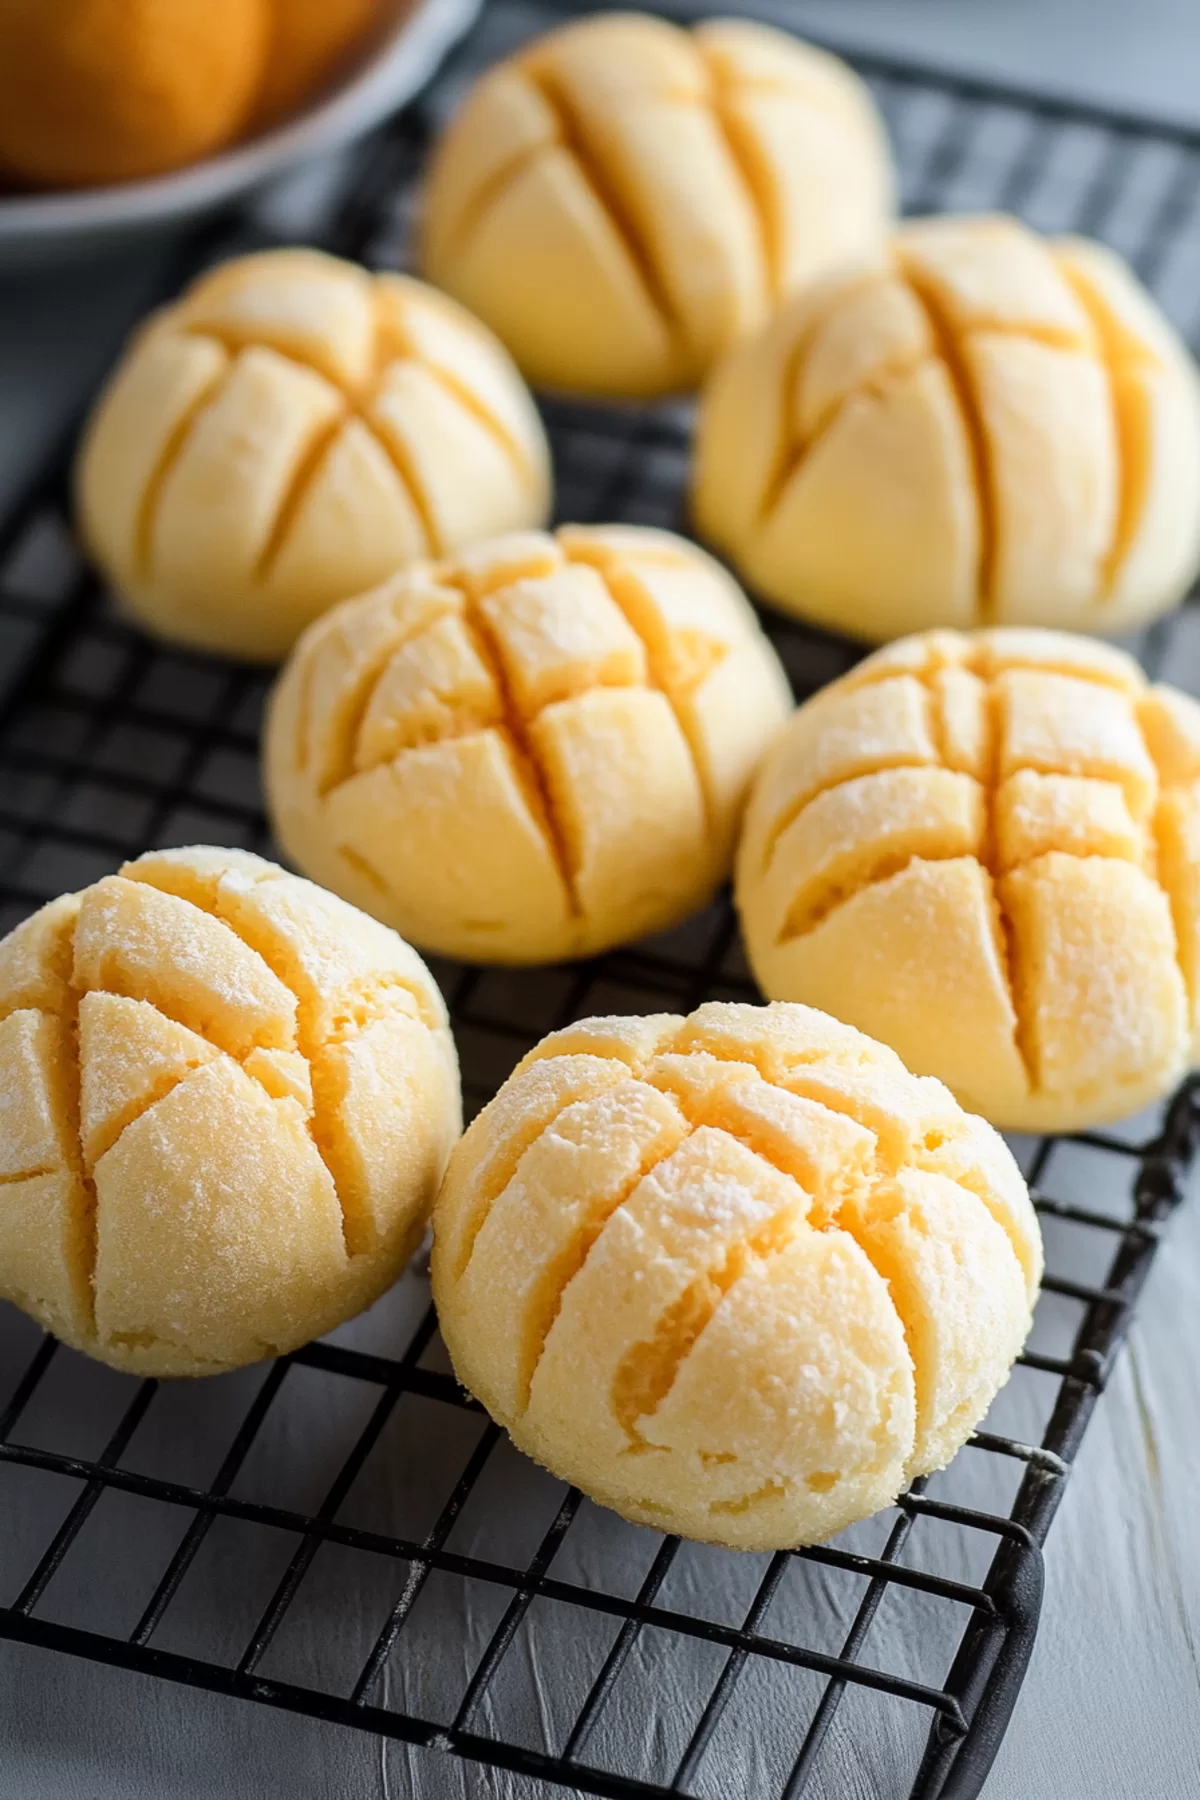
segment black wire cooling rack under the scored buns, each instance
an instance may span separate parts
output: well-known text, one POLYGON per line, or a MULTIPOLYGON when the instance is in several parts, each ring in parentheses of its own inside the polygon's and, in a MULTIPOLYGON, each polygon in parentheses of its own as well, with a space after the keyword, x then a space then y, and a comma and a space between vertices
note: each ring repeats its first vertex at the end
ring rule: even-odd
MULTIPOLYGON (((493 5, 423 104, 342 167, 302 236, 401 261, 437 117, 470 72, 543 23, 493 5)), ((892 63, 864 72, 907 211, 1004 207, 1105 238, 1196 335, 1200 135, 892 63)), ((255 234, 227 220, 185 254, 194 266, 255 234)), ((682 524, 682 409, 554 403, 549 427, 561 517, 682 524)), ((799 695, 856 655, 766 623, 799 695)), ((1198 686, 1196 610, 1135 648, 1198 686)), ((63 468, 0 551, 0 929, 151 844, 270 851, 255 767, 264 679, 158 648, 112 610, 72 547, 63 468)), ((435 972, 471 1111, 572 1017, 752 994, 725 902, 574 968, 435 972)), ((844 1795, 847 1768, 855 1791, 880 1800, 966 1800, 1007 1724, 1042 1544, 1196 1132, 1187 1085, 1112 1136, 1018 1147, 1051 1273, 986 1429, 889 1514, 774 1557, 635 1530, 520 1463, 455 1386, 417 1271, 390 1310, 201 1388, 97 1372, 5 1316, 0 1634, 628 1800, 844 1795), (54 1395, 101 1379, 81 1440, 54 1395), (297 1429, 315 1382, 324 1424, 308 1415, 297 1429), (196 1408, 223 1445, 216 1467, 189 1462, 196 1408), (113 1541, 115 1613, 103 1579, 113 1541), (660 1694, 671 1705, 651 1719, 660 1694), (862 1748, 883 1719, 887 1784, 862 1748)))

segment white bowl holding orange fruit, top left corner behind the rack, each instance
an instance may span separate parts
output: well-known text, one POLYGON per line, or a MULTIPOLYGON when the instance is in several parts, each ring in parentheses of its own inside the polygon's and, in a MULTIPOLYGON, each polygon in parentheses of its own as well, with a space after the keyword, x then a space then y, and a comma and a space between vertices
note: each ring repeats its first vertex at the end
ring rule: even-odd
POLYGON ((430 79, 480 0, 416 0, 308 112, 153 182, 0 200, 0 270, 95 256, 139 232, 209 212, 275 175, 362 137, 430 79))

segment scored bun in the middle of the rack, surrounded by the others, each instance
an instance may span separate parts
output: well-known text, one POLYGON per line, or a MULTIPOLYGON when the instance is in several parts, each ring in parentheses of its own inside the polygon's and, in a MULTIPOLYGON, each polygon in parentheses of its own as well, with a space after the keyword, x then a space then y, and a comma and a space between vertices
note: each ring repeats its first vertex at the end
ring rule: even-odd
POLYGON ((266 794, 297 868, 414 943, 549 963, 709 900, 788 711, 703 551, 565 526, 320 619, 272 697, 266 794))

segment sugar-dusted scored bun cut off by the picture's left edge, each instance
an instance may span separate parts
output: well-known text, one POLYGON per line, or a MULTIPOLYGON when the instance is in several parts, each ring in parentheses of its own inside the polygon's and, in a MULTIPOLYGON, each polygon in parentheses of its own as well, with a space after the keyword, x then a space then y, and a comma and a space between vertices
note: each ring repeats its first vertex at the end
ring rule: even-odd
POLYGON ((360 1312, 461 1123, 394 932, 237 850, 164 850, 0 943, 0 1298, 139 1375, 360 1312))

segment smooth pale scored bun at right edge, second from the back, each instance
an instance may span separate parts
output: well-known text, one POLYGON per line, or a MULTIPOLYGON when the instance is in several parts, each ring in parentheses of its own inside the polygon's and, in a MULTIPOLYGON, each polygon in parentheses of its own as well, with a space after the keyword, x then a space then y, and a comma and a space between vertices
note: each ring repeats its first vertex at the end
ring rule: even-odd
POLYGON ((1200 560, 1196 373, 1124 263, 921 220, 721 364, 693 515, 784 612, 1126 632, 1200 560))

